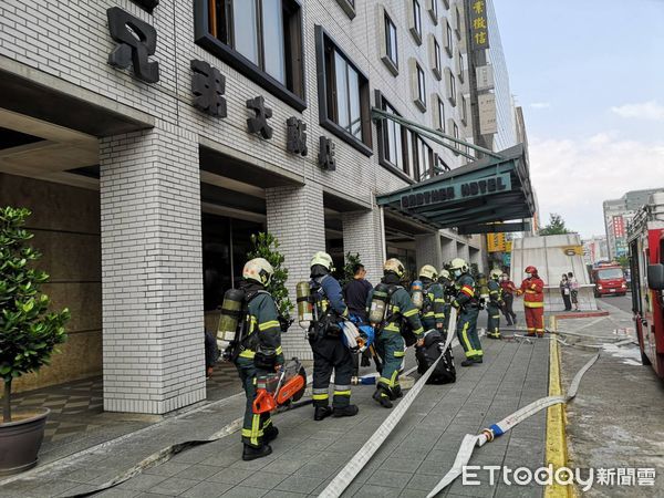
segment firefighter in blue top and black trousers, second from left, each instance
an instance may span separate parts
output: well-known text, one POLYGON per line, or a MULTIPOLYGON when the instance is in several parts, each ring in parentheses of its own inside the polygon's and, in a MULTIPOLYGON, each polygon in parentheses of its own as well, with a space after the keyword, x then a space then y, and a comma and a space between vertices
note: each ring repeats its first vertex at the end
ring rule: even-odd
POLYGON ((349 318, 339 281, 330 274, 332 258, 323 251, 311 259, 311 297, 314 321, 309 329, 309 344, 313 351, 312 397, 314 421, 333 415, 356 415, 357 406, 351 405, 351 378, 354 362, 351 351, 342 342, 340 322, 349 318), (334 395, 330 406, 330 378, 334 371, 334 395))

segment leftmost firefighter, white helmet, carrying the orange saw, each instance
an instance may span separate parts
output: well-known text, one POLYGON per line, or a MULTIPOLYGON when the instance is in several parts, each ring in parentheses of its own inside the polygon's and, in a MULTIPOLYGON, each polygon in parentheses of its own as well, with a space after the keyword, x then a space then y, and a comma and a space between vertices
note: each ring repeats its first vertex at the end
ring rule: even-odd
POLYGON ((243 460, 270 455, 272 448, 268 443, 279 434, 269 413, 253 413, 257 377, 273 373, 283 364, 279 313, 272 295, 266 291, 273 272, 272 266, 263 258, 252 259, 245 264, 239 286, 245 292, 247 311, 243 325, 247 334, 235 360, 247 395, 242 423, 243 460))

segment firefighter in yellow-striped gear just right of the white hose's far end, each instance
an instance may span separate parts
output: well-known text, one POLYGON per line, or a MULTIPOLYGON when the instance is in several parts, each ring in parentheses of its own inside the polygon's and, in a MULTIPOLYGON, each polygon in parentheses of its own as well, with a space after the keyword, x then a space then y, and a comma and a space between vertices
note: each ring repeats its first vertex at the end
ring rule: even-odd
POLYGON ((452 305, 459 310, 457 321, 457 336, 466 360, 461 366, 470 366, 483 362, 484 351, 477 335, 477 317, 479 315, 479 301, 475 291, 475 279, 470 274, 468 263, 461 258, 450 262, 450 271, 455 278, 456 295, 452 305))

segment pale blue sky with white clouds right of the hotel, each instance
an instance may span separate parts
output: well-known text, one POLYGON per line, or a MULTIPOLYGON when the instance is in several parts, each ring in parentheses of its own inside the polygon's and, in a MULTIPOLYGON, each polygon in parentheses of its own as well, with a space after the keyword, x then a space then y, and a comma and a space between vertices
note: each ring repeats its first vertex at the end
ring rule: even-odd
POLYGON ((603 200, 664 187, 664 0, 494 6, 540 220, 603 235, 603 200))

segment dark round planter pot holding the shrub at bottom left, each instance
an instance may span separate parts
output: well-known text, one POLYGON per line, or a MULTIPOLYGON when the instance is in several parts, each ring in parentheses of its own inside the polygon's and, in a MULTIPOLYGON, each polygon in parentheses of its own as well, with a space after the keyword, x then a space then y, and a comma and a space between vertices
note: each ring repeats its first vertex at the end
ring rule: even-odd
POLYGON ((12 414, 13 422, 0 424, 0 476, 19 474, 37 465, 51 411, 12 414))

